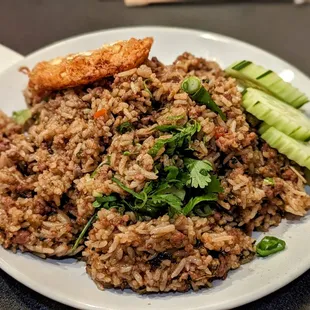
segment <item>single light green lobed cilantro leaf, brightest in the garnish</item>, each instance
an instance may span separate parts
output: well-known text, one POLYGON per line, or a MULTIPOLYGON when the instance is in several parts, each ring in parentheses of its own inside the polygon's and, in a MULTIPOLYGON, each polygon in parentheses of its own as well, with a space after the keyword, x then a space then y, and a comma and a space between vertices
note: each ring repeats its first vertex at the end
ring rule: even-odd
POLYGON ((207 160, 196 160, 191 158, 185 158, 184 164, 189 170, 190 179, 186 185, 194 188, 205 188, 211 182, 211 175, 209 171, 212 171, 212 165, 207 160))

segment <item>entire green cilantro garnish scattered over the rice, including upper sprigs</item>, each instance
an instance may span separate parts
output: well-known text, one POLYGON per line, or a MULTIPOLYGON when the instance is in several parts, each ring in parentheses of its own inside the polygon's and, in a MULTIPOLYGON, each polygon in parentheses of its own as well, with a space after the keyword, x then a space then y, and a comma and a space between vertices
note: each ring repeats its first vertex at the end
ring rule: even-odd
MULTIPOLYGON (((125 122, 118 131, 122 134, 132 129, 132 125, 125 122)), ((183 160, 183 166, 163 167, 161 162, 157 162, 155 172, 158 179, 146 183, 140 192, 135 192, 118 176, 114 176, 112 181, 123 190, 124 194, 96 195, 93 202, 95 215, 81 232, 75 243, 75 249, 96 220, 97 212, 102 208, 116 208, 121 214, 131 210, 140 220, 155 218, 166 213, 170 217, 176 214, 207 217, 213 213, 217 195, 223 189, 219 179, 213 173, 212 164, 207 160, 193 158, 193 152, 190 149, 190 143, 195 134, 201 130, 201 125, 194 121, 188 122, 183 127, 161 125, 155 127, 155 130, 169 132, 171 136, 165 139, 159 137, 148 153, 156 161, 157 154, 164 148, 164 153, 168 156, 179 155, 183 160)), ((102 165, 103 163, 93 172, 92 178, 96 176, 102 165)))

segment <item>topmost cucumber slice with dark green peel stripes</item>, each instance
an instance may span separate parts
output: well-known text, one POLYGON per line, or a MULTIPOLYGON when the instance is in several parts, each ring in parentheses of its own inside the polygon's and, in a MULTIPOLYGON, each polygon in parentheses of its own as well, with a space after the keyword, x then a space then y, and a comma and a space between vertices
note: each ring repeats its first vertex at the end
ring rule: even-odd
POLYGON ((243 85, 267 91, 294 108, 300 108, 309 101, 304 93, 285 82, 278 74, 251 61, 235 62, 225 71, 243 85))

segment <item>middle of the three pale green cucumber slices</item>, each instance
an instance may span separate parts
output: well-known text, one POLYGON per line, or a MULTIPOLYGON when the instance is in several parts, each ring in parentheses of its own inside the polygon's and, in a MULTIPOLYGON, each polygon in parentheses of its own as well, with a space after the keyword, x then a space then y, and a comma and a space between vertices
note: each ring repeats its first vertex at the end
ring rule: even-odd
POLYGON ((243 106, 249 113, 286 135, 297 140, 310 140, 310 119, 279 99, 261 90, 247 88, 243 93, 243 106))

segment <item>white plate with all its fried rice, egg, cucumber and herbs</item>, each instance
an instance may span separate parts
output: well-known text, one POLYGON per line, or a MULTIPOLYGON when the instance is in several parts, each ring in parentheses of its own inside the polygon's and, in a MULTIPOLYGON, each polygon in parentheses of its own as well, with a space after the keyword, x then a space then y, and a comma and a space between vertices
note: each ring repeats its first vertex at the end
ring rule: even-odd
POLYGON ((310 80, 137 27, 0 75, 0 267, 80 309, 231 309, 310 268, 310 80), (309 109, 308 109, 309 111, 309 109))

